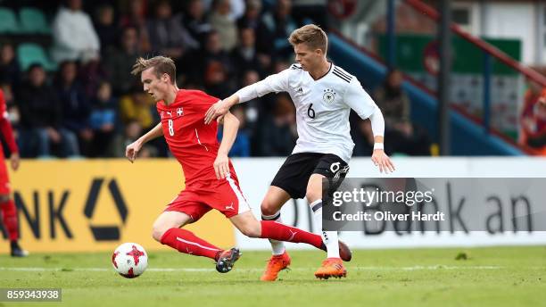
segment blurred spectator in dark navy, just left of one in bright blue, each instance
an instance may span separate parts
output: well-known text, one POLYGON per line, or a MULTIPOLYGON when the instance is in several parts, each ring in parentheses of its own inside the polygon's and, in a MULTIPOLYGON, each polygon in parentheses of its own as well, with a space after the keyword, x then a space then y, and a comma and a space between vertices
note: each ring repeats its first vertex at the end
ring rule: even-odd
POLYGON ((62 105, 62 127, 78 136, 79 152, 87 155, 93 141, 93 130, 89 127, 91 104, 76 79, 77 75, 76 62, 62 62, 57 71, 55 89, 62 105))

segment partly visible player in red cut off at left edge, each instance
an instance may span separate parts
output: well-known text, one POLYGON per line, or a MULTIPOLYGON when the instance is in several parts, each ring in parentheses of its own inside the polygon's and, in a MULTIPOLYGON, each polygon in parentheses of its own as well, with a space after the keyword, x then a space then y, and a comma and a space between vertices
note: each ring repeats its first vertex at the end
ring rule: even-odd
MULTIPOLYGON (((8 119, 7 107, 5 105, 4 92, 0 89, 0 130, 4 136, 10 152, 10 163, 12 170, 19 168, 19 149, 13 138, 12 124, 8 119)), ((25 257, 29 252, 21 249, 19 246, 19 221, 17 217, 17 208, 13 202, 10 189, 10 179, 4 162, 4 151, 0 148, 0 210, 2 211, 2 220, 4 220, 4 229, 10 238, 12 248, 12 257, 25 257)))

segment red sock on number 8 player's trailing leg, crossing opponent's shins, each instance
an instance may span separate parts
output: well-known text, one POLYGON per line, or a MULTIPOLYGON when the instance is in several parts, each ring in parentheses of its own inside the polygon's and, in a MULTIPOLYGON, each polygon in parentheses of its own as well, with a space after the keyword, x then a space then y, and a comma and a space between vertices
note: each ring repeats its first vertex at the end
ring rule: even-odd
POLYGON ((300 228, 294 228, 273 220, 261 220, 261 238, 278 241, 307 243, 322 249, 322 238, 300 228))

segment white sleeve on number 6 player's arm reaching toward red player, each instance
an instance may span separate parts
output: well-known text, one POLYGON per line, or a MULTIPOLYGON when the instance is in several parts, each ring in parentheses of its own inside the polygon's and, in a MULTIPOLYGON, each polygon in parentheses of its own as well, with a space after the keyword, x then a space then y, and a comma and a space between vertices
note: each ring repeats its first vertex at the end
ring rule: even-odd
POLYGON ((239 96, 239 103, 244 103, 262 95, 269 93, 285 92, 288 90, 288 84, 292 69, 286 69, 268 78, 256 82, 248 87, 243 87, 236 92, 239 96))

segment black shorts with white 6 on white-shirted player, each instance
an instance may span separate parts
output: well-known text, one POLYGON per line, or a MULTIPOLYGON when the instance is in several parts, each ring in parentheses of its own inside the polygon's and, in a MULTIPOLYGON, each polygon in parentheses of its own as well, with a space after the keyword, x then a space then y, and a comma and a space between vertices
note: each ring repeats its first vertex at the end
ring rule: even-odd
POLYGON ((291 154, 277 171, 271 186, 282 188, 294 199, 303 198, 312 174, 320 174, 328 178, 329 190, 335 191, 348 171, 347 162, 335 154, 291 154))

